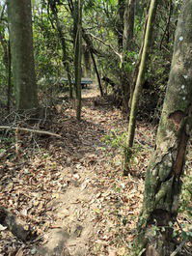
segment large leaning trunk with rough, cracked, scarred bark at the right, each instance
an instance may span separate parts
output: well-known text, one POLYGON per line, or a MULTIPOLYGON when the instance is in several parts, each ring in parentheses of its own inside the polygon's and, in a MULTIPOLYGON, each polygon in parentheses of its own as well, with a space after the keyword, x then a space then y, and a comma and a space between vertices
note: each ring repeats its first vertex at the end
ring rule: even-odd
POLYGON ((192 0, 185 0, 178 17, 172 68, 138 225, 137 248, 140 251, 145 248, 142 255, 146 256, 169 256, 175 249, 173 224, 178 214, 180 178, 192 128, 191 14, 192 0))

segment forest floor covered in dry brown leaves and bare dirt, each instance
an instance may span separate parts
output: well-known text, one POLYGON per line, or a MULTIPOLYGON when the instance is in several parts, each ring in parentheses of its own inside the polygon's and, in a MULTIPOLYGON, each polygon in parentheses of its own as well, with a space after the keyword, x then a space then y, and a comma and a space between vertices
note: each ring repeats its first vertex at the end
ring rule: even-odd
POLYGON ((81 122, 68 101, 56 106, 46 128, 61 139, 23 134, 17 156, 14 134, 2 140, 0 204, 38 237, 21 242, 0 226, 0 255, 130 255, 155 128, 139 124, 135 176, 123 177, 121 111, 99 99, 94 87, 83 97, 81 122))

